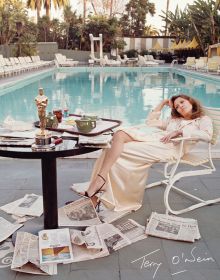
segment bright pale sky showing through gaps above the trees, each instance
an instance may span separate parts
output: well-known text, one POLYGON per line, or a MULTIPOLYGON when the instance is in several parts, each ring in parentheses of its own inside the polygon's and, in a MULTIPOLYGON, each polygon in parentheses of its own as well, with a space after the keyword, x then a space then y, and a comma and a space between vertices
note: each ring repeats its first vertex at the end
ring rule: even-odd
MULTIPOLYGON (((70 0, 70 5, 72 6, 72 10, 77 10, 78 14, 82 13, 82 3, 83 1, 80 0, 70 0)), ((125 1, 126 2, 126 1, 125 1)), ((147 16, 147 25, 152 25, 154 27, 156 27, 157 29, 162 29, 162 26, 164 25, 164 23, 162 22, 162 19, 159 15, 161 15, 161 10, 162 11, 166 11, 166 0, 150 0, 151 3, 155 4, 155 8, 156 8, 156 14, 152 17, 150 15, 147 16)), ((169 4, 169 10, 174 12, 176 9, 176 6, 178 5, 179 8, 181 10, 183 10, 187 4, 192 4, 194 2, 194 0, 170 0, 170 4, 169 4)), ((45 14, 45 11, 44 11, 45 14)), ((61 13, 52 10, 52 17, 55 18, 60 18, 61 17, 61 13)), ((35 12, 30 12, 31 16, 36 16, 35 12)))

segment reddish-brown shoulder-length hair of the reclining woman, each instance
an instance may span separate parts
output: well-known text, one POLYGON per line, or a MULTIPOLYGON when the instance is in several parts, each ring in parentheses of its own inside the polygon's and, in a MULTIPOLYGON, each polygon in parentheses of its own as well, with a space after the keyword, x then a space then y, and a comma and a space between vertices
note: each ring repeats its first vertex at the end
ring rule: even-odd
POLYGON ((177 110, 174 108, 174 101, 177 99, 177 98, 183 98, 183 99, 186 99, 188 100, 191 105, 192 105, 192 115, 191 115, 191 119, 194 120, 196 118, 200 118, 202 116, 205 115, 204 113, 204 110, 203 110, 203 107, 202 105, 200 104, 200 102, 188 95, 185 95, 185 94, 179 94, 179 95, 174 95, 173 97, 171 97, 171 102, 172 102, 172 110, 171 110, 171 116, 173 118, 182 118, 183 116, 177 112, 177 110))

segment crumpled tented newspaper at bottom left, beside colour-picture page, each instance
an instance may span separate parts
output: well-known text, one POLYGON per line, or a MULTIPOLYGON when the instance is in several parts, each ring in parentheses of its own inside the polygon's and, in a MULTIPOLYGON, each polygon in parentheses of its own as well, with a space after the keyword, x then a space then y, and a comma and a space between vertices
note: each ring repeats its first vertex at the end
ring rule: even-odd
POLYGON ((17 233, 11 269, 31 274, 57 274, 57 264, 40 264, 38 236, 28 232, 17 233))

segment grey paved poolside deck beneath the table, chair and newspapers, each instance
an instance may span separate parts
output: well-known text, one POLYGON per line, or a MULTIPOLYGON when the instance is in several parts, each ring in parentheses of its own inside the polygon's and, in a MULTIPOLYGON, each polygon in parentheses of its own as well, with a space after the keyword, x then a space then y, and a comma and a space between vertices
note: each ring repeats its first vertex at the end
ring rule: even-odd
MULTIPOLYGON (((94 160, 58 160, 59 206, 64 205, 71 198, 73 200, 77 198, 69 189, 69 186, 73 182, 88 180, 93 163, 94 160)), ((220 196, 220 161, 215 161, 215 165, 217 167, 215 174, 200 176, 199 178, 194 177, 193 180, 187 179, 186 188, 192 189, 195 193, 201 189, 205 196, 210 193, 220 196)), ((149 181, 155 180, 157 176, 156 173, 152 172, 149 181)), ((0 205, 18 199, 26 193, 41 194, 40 161, 0 158, 0 191, 0 205)), ((164 212, 162 198, 162 187, 147 190, 143 207, 130 214, 129 218, 145 225, 146 219, 152 211, 164 212)), ((188 200, 178 195, 174 195, 172 201, 177 207, 189 203, 188 200)), ((148 237, 105 258, 59 265, 58 275, 51 276, 50 279, 218 280, 220 275, 219 213, 220 205, 218 204, 182 215, 198 220, 202 238, 193 244, 148 237), (143 259, 131 263, 143 256, 146 257, 145 265, 142 268, 143 259)), ((1 212, 1 216, 3 216, 3 212, 1 212)), ((2 258, 3 252, 3 248, 0 247, 0 258, 2 258)), ((11 271, 7 264, 2 265, 0 263, 0 279, 33 280, 45 279, 45 276, 16 273, 11 271)))

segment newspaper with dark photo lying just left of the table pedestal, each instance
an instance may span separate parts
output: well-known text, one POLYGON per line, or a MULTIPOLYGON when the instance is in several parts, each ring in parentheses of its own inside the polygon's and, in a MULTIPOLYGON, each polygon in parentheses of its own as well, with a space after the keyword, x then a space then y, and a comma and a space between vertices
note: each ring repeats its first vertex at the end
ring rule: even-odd
POLYGON ((19 217, 34 216, 40 217, 43 214, 43 197, 36 194, 26 194, 23 198, 0 207, 8 214, 19 217))

